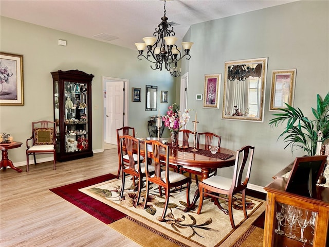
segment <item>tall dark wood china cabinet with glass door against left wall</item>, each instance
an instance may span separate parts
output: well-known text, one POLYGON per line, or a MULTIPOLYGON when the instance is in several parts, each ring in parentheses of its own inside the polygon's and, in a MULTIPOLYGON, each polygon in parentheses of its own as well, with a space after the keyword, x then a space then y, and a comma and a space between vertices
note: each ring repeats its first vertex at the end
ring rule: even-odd
POLYGON ((54 120, 57 122, 56 158, 69 161, 93 156, 92 80, 80 70, 51 72, 54 120))

